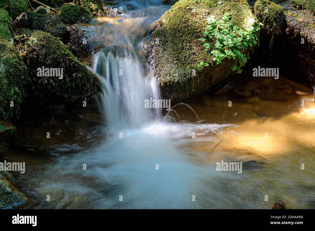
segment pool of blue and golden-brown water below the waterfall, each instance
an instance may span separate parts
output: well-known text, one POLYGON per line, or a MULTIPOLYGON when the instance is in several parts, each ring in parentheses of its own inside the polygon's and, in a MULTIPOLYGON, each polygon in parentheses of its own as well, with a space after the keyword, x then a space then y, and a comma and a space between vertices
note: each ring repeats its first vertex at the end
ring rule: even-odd
POLYGON ((269 209, 281 199, 287 208, 314 208, 315 102, 301 107, 312 89, 282 76, 261 82, 245 75, 234 82, 256 92, 273 84, 270 91, 283 100, 208 94, 187 102, 204 121, 177 106, 180 120, 127 129, 124 142, 108 135, 97 107, 74 109, 74 116, 53 126, 50 139, 43 126, 19 128, 11 145, 20 144, 18 150, 7 147, 1 156, 26 162, 26 173, 15 174, 29 198, 21 207, 269 209), (221 160, 242 162, 242 173, 216 171, 221 160))

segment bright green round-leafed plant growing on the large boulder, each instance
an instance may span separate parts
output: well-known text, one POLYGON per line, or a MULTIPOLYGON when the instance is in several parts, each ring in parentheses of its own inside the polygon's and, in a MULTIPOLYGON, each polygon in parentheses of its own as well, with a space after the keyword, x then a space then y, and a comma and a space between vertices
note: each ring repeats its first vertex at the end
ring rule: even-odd
MULTIPOLYGON (((239 29, 238 26, 233 26, 229 21, 231 19, 230 13, 225 13, 222 20, 218 21, 215 16, 211 15, 208 20, 206 31, 203 32, 203 38, 199 41, 203 42, 204 50, 207 52, 210 47, 210 40, 216 40, 214 49, 211 54, 214 54, 213 60, 220 64, 224 58, 236 59, 232 70, 236 73, 241 73, 241 67, 247 62, 247 56, 243 53, 248 47, 257 44, 256 31, 260 30, 259 26, 248 26, 245 30, 239 29)), ((259 23, 262 25, 262 23, 259 23)), ((209 66, 208 63, 200 62, 197 67, 209 66)))

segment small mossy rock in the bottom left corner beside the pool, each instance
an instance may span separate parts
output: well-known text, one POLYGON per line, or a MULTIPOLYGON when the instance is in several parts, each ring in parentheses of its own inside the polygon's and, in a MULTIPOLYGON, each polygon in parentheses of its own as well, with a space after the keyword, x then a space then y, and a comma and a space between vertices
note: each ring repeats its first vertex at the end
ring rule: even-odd
POLYGON ((12 175, 0 171, 0 209, 8 209, 26 201, 25 195, 12 184, 12 175))

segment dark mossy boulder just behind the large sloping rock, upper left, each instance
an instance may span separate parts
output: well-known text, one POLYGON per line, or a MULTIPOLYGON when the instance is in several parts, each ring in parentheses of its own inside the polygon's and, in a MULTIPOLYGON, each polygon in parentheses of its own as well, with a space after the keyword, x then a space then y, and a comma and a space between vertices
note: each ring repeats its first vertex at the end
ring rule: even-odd
POLYGON ((40 6, 28 14, 28 27, 34 30, 43 30, 50 35, 64 39, 67 32, 66 25, 58 15, 48 14, 46 8, 40 6))

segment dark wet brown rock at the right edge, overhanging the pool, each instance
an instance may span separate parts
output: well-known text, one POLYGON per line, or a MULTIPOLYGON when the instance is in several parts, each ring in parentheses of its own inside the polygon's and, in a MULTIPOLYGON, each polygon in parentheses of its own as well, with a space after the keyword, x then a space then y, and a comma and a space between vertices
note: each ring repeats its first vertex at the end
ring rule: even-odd
POLYGON ((281 72, 314 87, 315 16, 301 10, 289 10, 285 15, 287 28, 278 48, 281 72))

